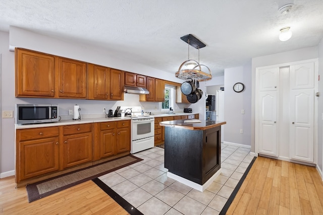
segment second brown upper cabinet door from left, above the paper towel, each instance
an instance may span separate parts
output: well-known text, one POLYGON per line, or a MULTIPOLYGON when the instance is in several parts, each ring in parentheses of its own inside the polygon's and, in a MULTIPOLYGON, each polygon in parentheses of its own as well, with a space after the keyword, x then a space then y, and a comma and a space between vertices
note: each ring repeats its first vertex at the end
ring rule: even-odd
POLYGON ((60 97, 86 98, 87 70, 86 63, 59 58, 60 97))

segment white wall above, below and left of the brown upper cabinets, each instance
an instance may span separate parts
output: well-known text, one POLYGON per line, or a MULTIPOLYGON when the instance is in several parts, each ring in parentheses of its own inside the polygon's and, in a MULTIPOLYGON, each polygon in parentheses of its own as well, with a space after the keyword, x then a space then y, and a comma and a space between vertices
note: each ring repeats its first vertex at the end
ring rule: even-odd
MULTIPOLYGON (((139 95, 134 94, 125 94, 124 101, 15 98, 15 56, 14 52, 9 51, 10 45, 132 71, 159 79, 182 82, 182 80, 175 78, 174 74, 116 58, 112 56, 113 53, 101 50, 98 47, 73 44, 11 27, 10 34, 0 31, 0 53, 2 54, 1 111, 15 110, 15 105, 19 103, 59 104, 59 115, 63 116, 68 115, 68 110, 72 109, 75 104, 80 105, 81 114, 84 116, 86 114, 103 114, 102 108, 114 110, 117 106, 141 106, 145 111, 160 111, 160 102, 139 102, 139 95)), ((184 107, 188 106, 187 104, 176 104, 174 110, 182 111, 184 107)), ((0 178, 3 178, 15 174, 15 121, 14 118, 9 118, 2 119, 1 123, 0 178)))

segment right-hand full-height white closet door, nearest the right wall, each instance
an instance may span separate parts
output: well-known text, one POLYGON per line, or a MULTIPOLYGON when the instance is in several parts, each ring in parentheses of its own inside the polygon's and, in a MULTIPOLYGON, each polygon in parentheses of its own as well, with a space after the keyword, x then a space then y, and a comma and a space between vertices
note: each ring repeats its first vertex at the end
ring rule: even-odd
POLYGON ((291 66, 291 158, 314 162, 314 62, 291 66))

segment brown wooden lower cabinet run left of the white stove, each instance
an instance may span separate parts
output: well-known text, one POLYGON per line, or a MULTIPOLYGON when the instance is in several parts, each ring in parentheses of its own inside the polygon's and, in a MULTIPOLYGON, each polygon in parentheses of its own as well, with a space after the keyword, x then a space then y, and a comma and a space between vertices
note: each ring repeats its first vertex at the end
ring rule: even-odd
POLYGON ((130 146, 130 120, 16 129, 17 187, 128 155, 130 146))

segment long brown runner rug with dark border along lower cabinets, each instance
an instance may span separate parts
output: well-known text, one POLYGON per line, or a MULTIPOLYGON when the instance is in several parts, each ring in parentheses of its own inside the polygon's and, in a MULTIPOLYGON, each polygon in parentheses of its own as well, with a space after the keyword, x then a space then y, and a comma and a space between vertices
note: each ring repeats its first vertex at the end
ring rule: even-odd
POLYGON ((69 187, 92 180, 93 178, 116 171, 139 161, 142 161, 142 159, 133 155, 127 155, 102 164, 97 164, 61 176, 46 179, 44 181, 28 184, 26 186, 28 201, 35 201, 42 197, 57 193, 69 187))

